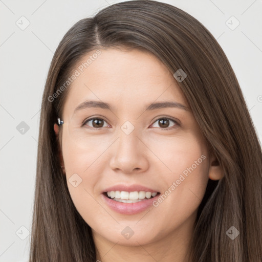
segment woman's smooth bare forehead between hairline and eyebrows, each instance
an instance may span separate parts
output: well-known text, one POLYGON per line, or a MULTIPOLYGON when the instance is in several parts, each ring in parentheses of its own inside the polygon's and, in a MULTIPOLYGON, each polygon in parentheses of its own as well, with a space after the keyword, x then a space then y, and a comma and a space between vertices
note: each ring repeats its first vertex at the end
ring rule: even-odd
POLYGON ((64 105, 67 113, 91 99, 129 110, 158 100, 187 104, 172 74, 153 54, 137 49, 100 52, 86 54, 73 69, 79 75, 70 85, 64 105))

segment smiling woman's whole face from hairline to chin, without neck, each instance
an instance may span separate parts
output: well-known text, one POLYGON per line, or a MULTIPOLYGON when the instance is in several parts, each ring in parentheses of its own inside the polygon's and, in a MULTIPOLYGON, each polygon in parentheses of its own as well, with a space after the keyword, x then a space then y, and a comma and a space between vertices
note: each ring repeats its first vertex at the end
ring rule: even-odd
POLYGON ((74 205, 94 239, 135 246, 179 234, 181 241, 192 232, 211 170, 197 122, 156 57, 100 51, 73 71, 62 114, 74 205))

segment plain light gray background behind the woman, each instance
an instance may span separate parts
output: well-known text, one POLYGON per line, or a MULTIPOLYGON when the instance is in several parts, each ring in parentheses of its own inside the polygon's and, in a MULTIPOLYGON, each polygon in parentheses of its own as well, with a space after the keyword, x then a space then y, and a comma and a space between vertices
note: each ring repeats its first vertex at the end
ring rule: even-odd
MULTIPOLYGON (((28 260, 30 236, 26 236, 32 223, 39 111, 53 53, 78 20, 118 2, 121 1, 0 0, 0 262, 28 260), (30 25, 21 30, 27 20, 30 25), (19 130, 22 121, 29 126, 24 134, 20 133, 23 129, 19 130)), ((262 1, 160 2, 197 18, 220 43, 241 85, 261 141, 262 1), (238 22, 231 16, 240 23, 234 30, 238 22)))

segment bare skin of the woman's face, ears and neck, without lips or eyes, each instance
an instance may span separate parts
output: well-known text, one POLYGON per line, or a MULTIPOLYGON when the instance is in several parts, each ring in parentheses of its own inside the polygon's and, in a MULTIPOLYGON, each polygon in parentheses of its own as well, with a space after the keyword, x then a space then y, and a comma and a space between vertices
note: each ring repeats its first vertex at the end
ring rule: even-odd
MULTIPOLYGON (((154 55, 139 50, 100 50, 102 53, 71 84, 65 101, 61 165, 76 209, 93 231, 97 259, 110 261, 190 261, 186 254, 198 207, 208 178, 223 177, 214 165, 197 122, 190 110, 166 107, 144 111, 152 102, 176 101, 189 107, 176 79, 154 55), (86 100, 110 103, 113 110, 85 108, 86 100), (89 121, 103 118, 100 130, 89 121), (159 119, 169 121, 165 130, 159 119), (129 121, 135 129, 126 135, 121 126, 129 121), (116 184, 139 184, 164 193, 180 174, 202 155, 206 158, 188 174, 158 207, 124 215, 102 200, 103 189, 116 184), (74 187, 70 177, 82 182, 74 187), (134 235, 126 239, 126 227, 134 235), (170 248, 173 247, 173 248, 170 248)), ((94 52, 86 54, 79 64, 94 52)), ((77 69, 77 67, 76 67, 77 69)))

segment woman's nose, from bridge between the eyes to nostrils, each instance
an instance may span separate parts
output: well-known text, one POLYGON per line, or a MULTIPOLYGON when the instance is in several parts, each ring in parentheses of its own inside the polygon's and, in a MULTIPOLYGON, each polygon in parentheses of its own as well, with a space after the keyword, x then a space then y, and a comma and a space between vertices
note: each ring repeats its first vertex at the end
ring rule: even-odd
POLYGON ((146 152, 148 148, 137 136, 135 130, 126 135, 122 130, 119 138, 112 147, 112 158, 110 167, 115 171, 131 174, 134 172, 144 172, 149 166, 146 152))

